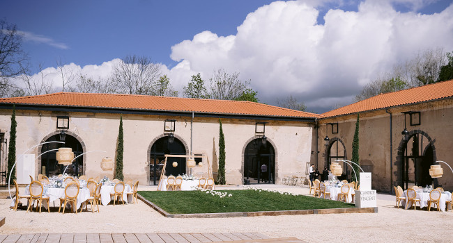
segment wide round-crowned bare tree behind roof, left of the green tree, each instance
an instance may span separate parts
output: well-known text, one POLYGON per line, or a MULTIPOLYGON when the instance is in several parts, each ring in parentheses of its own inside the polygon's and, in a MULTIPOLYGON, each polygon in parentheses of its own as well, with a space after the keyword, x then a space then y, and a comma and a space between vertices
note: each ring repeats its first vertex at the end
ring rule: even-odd
POLYGON ((155 94, 160 65, 144 56, 126 56, 114 66, 112 84, 122 94, 155 94))

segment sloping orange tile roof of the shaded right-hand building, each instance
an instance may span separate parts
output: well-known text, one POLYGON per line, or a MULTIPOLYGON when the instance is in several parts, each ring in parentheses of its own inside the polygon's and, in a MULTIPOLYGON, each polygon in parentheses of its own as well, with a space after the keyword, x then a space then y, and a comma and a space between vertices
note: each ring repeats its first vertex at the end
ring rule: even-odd
POLYGON ((358 101, 348 106, 330 110, 321 115, 323 115, 323 117, 336 117, 356 112, 379 110, 393 106, 402 106, 451 97, 453 97, 453 80, 413 87, 397 92, 379 94, 375 97, 364 99, 363 101, 358 101))

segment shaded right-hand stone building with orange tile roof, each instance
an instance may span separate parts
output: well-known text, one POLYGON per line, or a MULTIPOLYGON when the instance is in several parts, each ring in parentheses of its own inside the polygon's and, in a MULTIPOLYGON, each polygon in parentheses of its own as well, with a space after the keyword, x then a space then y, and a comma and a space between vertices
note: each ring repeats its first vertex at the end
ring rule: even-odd
MULTIPOLYGON (((338 159, 351 160, 358 113, 360 165, 372 173, 374 189, 392 192, 394 185, 406 189, 433 184, 453 190, 453 174, 447 165, 440 163, 443 177, 429 176, 436 160, 453 166, 453 81, 379 94, 323 113, 314 129, 318 139, 312 146, 318 144, 318 156, 312 156, 312 162, 328 167, 338 159), (401 135, 405 129, 406 138, 401 135)), ((340 165, 351 178, 351 167, 340 165)))

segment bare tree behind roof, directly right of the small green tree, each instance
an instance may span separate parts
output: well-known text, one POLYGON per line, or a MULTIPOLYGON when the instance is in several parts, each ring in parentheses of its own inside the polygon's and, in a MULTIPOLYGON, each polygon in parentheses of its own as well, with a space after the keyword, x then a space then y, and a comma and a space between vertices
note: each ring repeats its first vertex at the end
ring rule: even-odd
POLYGON ((218 69, 209 80, 207 97, 234 100, 240 97, 249 85, 250 81, 240 81, 238 72, 228 74, 224 69, 218 69))

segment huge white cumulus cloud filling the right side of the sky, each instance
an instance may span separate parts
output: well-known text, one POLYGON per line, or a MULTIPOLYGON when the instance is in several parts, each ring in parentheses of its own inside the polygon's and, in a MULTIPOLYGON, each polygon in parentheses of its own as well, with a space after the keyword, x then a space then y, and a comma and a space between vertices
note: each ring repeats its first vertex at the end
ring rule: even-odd
MULTIPOLYGON (((249 13, 236 35, 198 33, 175 44, 171 58, 184 63, 185 72, 205 78, 218 68, 240 72, 267 103, 292 94, 309 108, 325 110, 350 103, 377 74, 420 50, 453 49, 453 6, 422 15, 398 12, 392 3, 364 1, 358 11, 331 9, 321 25, 314 4, 277 1, 249 13)), ((413 8, 424 4, 416 1, 413 8)))

